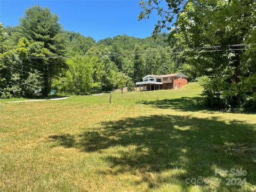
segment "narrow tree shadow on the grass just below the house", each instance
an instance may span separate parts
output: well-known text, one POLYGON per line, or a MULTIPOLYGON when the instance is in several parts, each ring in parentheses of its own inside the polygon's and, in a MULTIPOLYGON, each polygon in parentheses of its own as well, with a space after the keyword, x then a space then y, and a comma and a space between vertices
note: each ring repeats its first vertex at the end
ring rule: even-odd
POLYGON ((137 101, 138 104, 149 105, 160 109, 175 109, 181 111, 198 111, 205 107, 201 104, 202 97, 182 97, 177 99, 162 99, 155 101, 137 101))

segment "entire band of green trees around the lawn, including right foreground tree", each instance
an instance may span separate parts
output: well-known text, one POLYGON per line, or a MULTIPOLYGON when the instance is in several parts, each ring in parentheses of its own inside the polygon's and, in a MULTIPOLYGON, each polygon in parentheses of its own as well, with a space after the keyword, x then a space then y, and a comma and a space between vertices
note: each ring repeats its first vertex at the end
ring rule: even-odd
POLYGON ((95 42, 66 31, 58 15, 39 5, 26 10, 19 26, 0 24, 0 98, 132 90, 147 74, 179 71, 201 83, 207 106, 256 109, 256 3, 163 2, 140 2, 139 20, 154 10, 159 15, 153 37, 143 39, 95 42))

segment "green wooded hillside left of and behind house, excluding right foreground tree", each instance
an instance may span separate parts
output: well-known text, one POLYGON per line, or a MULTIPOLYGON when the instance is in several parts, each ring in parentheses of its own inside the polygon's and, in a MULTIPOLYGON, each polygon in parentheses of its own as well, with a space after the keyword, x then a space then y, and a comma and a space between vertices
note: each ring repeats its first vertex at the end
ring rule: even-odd
POLYGON ((58 21, 50 9, 36 5, 26 10, 19 26, 0 24, 1 98, 46 97, 53 90, 86 94, 127 85, 132 90, 134 82, 147 74, 182 70, 168 52, 155 52, 169 47, 167 34, 95 42, 66 31, 58 21))

